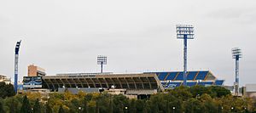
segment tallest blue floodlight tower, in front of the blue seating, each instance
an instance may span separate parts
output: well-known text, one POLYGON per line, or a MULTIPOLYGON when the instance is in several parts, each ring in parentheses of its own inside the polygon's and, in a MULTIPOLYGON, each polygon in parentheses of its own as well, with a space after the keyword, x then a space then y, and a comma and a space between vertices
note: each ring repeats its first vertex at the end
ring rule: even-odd
POLYGON ((177 38, 183 39, 183 85, 187 86, 187 40, 194 39, 194 26, 193 25, 176 25, 177 38))

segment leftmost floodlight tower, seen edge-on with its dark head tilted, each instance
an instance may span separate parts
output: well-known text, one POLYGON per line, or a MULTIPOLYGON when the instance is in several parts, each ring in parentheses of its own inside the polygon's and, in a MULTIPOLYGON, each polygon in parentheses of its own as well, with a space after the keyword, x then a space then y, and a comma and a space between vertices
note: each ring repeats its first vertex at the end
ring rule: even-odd
POLYGON ((17 42, 15 46, 15 93, 17 93, 18 91, 18 61, 19 61, 20 43, 21 43, 21 40, 17 42))

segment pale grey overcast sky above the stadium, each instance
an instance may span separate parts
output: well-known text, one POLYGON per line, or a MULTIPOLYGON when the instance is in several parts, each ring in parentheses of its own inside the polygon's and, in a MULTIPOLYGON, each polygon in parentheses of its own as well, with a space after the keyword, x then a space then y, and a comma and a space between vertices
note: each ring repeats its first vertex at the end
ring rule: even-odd
POLYGON ((189 71, 209 70, 226 85, 235 81, 231 48, 241 48, 241 85, 256 80, 255 0, 1 0, 0 74, 19 80, 27 65, 47 75, 104 71, 183 71, 183 40, 175 25, 195 26, 188 44, 189 71))

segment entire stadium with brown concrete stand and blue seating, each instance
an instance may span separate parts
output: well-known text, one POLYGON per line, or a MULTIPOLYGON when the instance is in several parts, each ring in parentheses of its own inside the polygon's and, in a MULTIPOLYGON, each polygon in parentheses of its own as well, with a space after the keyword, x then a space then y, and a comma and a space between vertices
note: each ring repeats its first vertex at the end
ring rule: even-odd
MULTIPOLYGON (((36 69, 29 68, 29 71, 36 69)), ((150 95, 182 85, 183 71, 144 72, 138 74, 64 73, 56 74, 55 76, 46 76, 39 73, 38 75, 28 75, 23 78, 23 89, 26 91, 47 89, 49 92, 69 90, 73 93, 78 93, 79 91, 90 93, 115 92, 115 90, 119 91, 121 89, 126 95, 150 95)), ((187 86, 195 85, 223 86, 224 80, 218 80, 211 71, 188 71, 187 86)))

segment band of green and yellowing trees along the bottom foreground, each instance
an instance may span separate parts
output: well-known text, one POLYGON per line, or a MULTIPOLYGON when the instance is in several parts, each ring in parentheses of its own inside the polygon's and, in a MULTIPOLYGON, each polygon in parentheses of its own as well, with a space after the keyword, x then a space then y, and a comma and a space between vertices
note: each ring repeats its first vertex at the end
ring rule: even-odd
POLYGON ((218 87, 178 87, 148 99, 109 93, 23 93, 0 99, 1 113, 230 113, 256 112, 253 99, 218 87))

